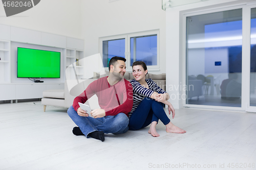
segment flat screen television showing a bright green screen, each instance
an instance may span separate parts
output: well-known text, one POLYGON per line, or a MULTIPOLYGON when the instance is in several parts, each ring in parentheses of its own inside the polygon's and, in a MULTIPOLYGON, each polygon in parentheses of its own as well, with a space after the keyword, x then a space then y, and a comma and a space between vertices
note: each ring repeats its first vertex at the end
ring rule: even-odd
POLYGON ((60 52, 18 47, 17 78, 60 78, 60 52))

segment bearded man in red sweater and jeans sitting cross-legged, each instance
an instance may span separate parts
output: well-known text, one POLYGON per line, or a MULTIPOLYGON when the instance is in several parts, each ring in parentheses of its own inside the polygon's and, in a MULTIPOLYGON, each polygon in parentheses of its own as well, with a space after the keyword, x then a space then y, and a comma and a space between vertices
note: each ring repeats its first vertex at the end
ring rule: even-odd
POLYGON ((104 133, 121 134, 129 129, 128 113, 133 107, 133 88, 123 78, 125 58, 113 57, 109 62, 110 75, 92 82, 86 90, 74 99, 68 110, 69 116, 78 127, 74 135, 86 135, 104 141, 104 133), (91 111, 92 117, 82 110, 78 102, 85 103, 94 94, 98 97, 100 109, 91 111))

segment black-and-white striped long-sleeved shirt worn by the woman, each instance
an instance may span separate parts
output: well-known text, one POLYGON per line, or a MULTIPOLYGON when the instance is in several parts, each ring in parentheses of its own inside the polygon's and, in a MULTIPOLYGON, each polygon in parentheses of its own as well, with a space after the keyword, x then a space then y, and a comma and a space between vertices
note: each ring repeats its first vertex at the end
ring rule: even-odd
POLYGON ((130 83, 133 86, 133 108, 132 111, 129 112, 129 118, 145 97, 150 98, 154 91, 166 93, 166 91, 161 89, 152 79, 146 79, 145 81, 149 89, 142 86, 135 79, 130 80, 130 83))

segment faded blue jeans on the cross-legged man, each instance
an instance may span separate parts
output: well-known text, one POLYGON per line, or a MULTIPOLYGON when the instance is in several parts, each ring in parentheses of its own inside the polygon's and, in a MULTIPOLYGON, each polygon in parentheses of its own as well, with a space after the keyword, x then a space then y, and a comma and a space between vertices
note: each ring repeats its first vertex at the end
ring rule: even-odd
POLYGON ((104 116, 100 118, 79 116, 73 106, 68 110, 70 118, 80 128, 82 133, 88 138, 88 134, 94 131, 104 133, 121 134, 128 131, 129 119, 124 113, 115 116, 104 116))

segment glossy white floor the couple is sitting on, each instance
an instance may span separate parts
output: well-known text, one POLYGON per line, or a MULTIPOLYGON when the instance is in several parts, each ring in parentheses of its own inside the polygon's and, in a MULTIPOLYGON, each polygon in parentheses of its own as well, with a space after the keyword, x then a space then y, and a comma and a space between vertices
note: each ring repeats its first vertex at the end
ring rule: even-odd
POLYGON ((180 109, 185 134, 159 123, 160 137, 146 127, 101 142, 73 135, 67 109, 35 103, 0 104, 0 169, 256 169, 255 113, 180 109))

